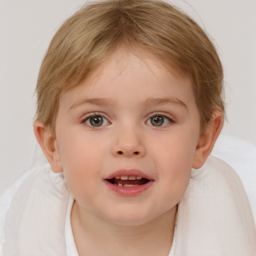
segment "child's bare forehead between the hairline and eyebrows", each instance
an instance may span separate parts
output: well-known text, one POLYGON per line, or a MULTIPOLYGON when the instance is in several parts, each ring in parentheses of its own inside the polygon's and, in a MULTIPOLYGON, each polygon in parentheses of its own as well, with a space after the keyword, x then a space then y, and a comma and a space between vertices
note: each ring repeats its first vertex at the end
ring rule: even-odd
POLYGON ((155 55, 124 50, 115 51, 81 84, 62 94, 60 105, 65 102, 72 108, 88 98, 108 98, 115 105, 124 104, 127 98, 134 103, 150 98, 171 98, 184 105, 195 103, 187 76, 155 55))

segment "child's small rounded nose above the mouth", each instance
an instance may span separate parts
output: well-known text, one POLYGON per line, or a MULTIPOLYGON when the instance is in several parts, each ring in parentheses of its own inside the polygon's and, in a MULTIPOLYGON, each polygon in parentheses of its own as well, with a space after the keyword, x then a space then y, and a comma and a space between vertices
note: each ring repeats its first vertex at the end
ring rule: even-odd
POLYGON ((123 128, 115 132, 115 143, 111 153, 115 157, 136 157, 141 158, 146 150, 142 143, 142 134, 134 128, 123 128))

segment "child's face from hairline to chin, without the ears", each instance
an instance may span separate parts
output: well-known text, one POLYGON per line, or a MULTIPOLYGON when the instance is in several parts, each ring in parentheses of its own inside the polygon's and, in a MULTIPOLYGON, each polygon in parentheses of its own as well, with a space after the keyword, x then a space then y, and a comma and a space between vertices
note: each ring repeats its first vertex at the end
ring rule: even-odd
POLYGON ((80 210, 120 224, 174 211, 200 133, 190 80, 153 56, 123 52, 98 71, 60 97, 56 118, 61 164, 80 210))

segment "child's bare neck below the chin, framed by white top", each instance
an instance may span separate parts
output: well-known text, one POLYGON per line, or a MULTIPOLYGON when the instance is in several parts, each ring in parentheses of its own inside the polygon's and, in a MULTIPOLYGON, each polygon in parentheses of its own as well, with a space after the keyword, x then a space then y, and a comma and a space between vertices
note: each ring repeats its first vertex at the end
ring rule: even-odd
POLYGON ((75 201, 71 225, 79 256, 167 256, 172 244, 176 206, 139 225, 120 225, 95 216, 75 201))

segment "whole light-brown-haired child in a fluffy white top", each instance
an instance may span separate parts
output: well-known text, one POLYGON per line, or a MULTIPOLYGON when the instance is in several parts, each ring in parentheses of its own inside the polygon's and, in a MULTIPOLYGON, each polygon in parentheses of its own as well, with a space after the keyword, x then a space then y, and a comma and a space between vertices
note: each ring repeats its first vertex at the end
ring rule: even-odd
POLYGON ((241 182, 208 157, 222 79, 206 34, 170 4, 77 11, 40 68, 34 132, 49 164, 2 198, 2 255, 254 255, 241 182))

